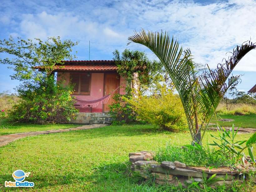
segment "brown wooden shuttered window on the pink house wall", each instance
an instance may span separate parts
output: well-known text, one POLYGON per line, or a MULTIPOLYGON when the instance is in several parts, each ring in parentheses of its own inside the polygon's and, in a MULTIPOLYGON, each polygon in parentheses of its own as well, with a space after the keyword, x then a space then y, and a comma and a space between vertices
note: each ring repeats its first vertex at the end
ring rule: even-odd
POLYGON ((90 73, 70 73, 70 80, 74 86, 74 95, 90 95, 91 74, 90 73))

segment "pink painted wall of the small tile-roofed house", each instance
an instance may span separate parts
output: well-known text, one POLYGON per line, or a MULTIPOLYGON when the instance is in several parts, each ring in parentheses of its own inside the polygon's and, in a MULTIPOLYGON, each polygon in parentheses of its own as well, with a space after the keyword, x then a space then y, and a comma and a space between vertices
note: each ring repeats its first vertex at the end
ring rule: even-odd
MULTIPOLYGON (((66 79, 66 84, 70 81, 69 73, 58 73, 57 81, 60 81, 64 77, 66 79)), ((124 86, 120 88, 120 94, 125 95, 125 86, 126 81, 124 78, 120 78, 120 85, 124 86)), ((84 100, 96 100, 103 97, 104 90, 104 73, 91 73, 91 93, 90 95, 73 95, 76 98, 84 99, 84 100)), ((99 104, 95 108, 75 106, 79 109, 80 113, 102 113, 103 112, 103 104, 99 104)))

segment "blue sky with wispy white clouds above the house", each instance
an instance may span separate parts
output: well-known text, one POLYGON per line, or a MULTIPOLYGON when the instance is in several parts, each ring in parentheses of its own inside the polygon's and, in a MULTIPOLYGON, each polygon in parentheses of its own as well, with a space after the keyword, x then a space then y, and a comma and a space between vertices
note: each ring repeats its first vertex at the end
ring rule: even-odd
MULTIPOLYGON (((125 48, 145 51, 146 47, 128 43, 128 37, 141 28, 168 31, 190 48, 194 61, 216 67, 228 58, 236 45, 256 42, 256 0, 1 0, 0 39, 60 36, 79 45, 76 60, 111 60, 112 52, 125 48)), ((1 58, 8 57, 0 54, 1 58)), ((11 80, 13 71, 0 64, 0 92, 19 82, 11 80)), ((248 91, 256 84, 256 50, 236 66, 234 75, 243 75, 237 86, 248 91)))

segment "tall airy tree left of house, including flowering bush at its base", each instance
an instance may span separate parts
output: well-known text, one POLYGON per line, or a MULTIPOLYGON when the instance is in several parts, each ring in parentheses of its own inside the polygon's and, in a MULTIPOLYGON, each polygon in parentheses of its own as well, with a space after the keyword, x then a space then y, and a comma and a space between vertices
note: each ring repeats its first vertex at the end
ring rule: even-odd
POLYGON ((77 110, 71 98, 72 86, 64 81, 56 83, 54 66, 65 59, 73 59, 72 47, 77 45, 60 37, 15 41, 13 37, 0 40, 0 53, 8 53, 13 59, 0 59, 8 64, 14 74, 12 79, 21 82, 16 87, 19 100, 9 113, 10 120, 35 123, 66 122, 77 110), (38 70, 39 69, 39 70, 38 70))

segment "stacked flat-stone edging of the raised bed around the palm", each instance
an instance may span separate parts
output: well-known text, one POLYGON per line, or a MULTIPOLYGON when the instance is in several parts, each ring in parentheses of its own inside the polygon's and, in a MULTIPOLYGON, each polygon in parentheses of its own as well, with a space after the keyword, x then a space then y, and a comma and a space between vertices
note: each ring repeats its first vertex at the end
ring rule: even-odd
MULTIPOLYGON (((190 167, 179 161, 163 161, 158 163, 152 159, 153 154, 148 151, 130 153, 131 170, 138 171, 142 177, 152 179, 157 184, 164 185, 168 183, 179 186, 180 183, 185 188, 194 181, 199 182, 199 186, 203 188, 202 184, 205 181, 207 182, 214 174, 216 174, 214 179, 218 179, 218 181, 208 184, 213 189, 221 185, 230 187, 235 181, 241 182, 239 172, 229 168, 208 169, 206 167, 190 167)), ((241 176, 244 176, 244 174, 241 176)))

